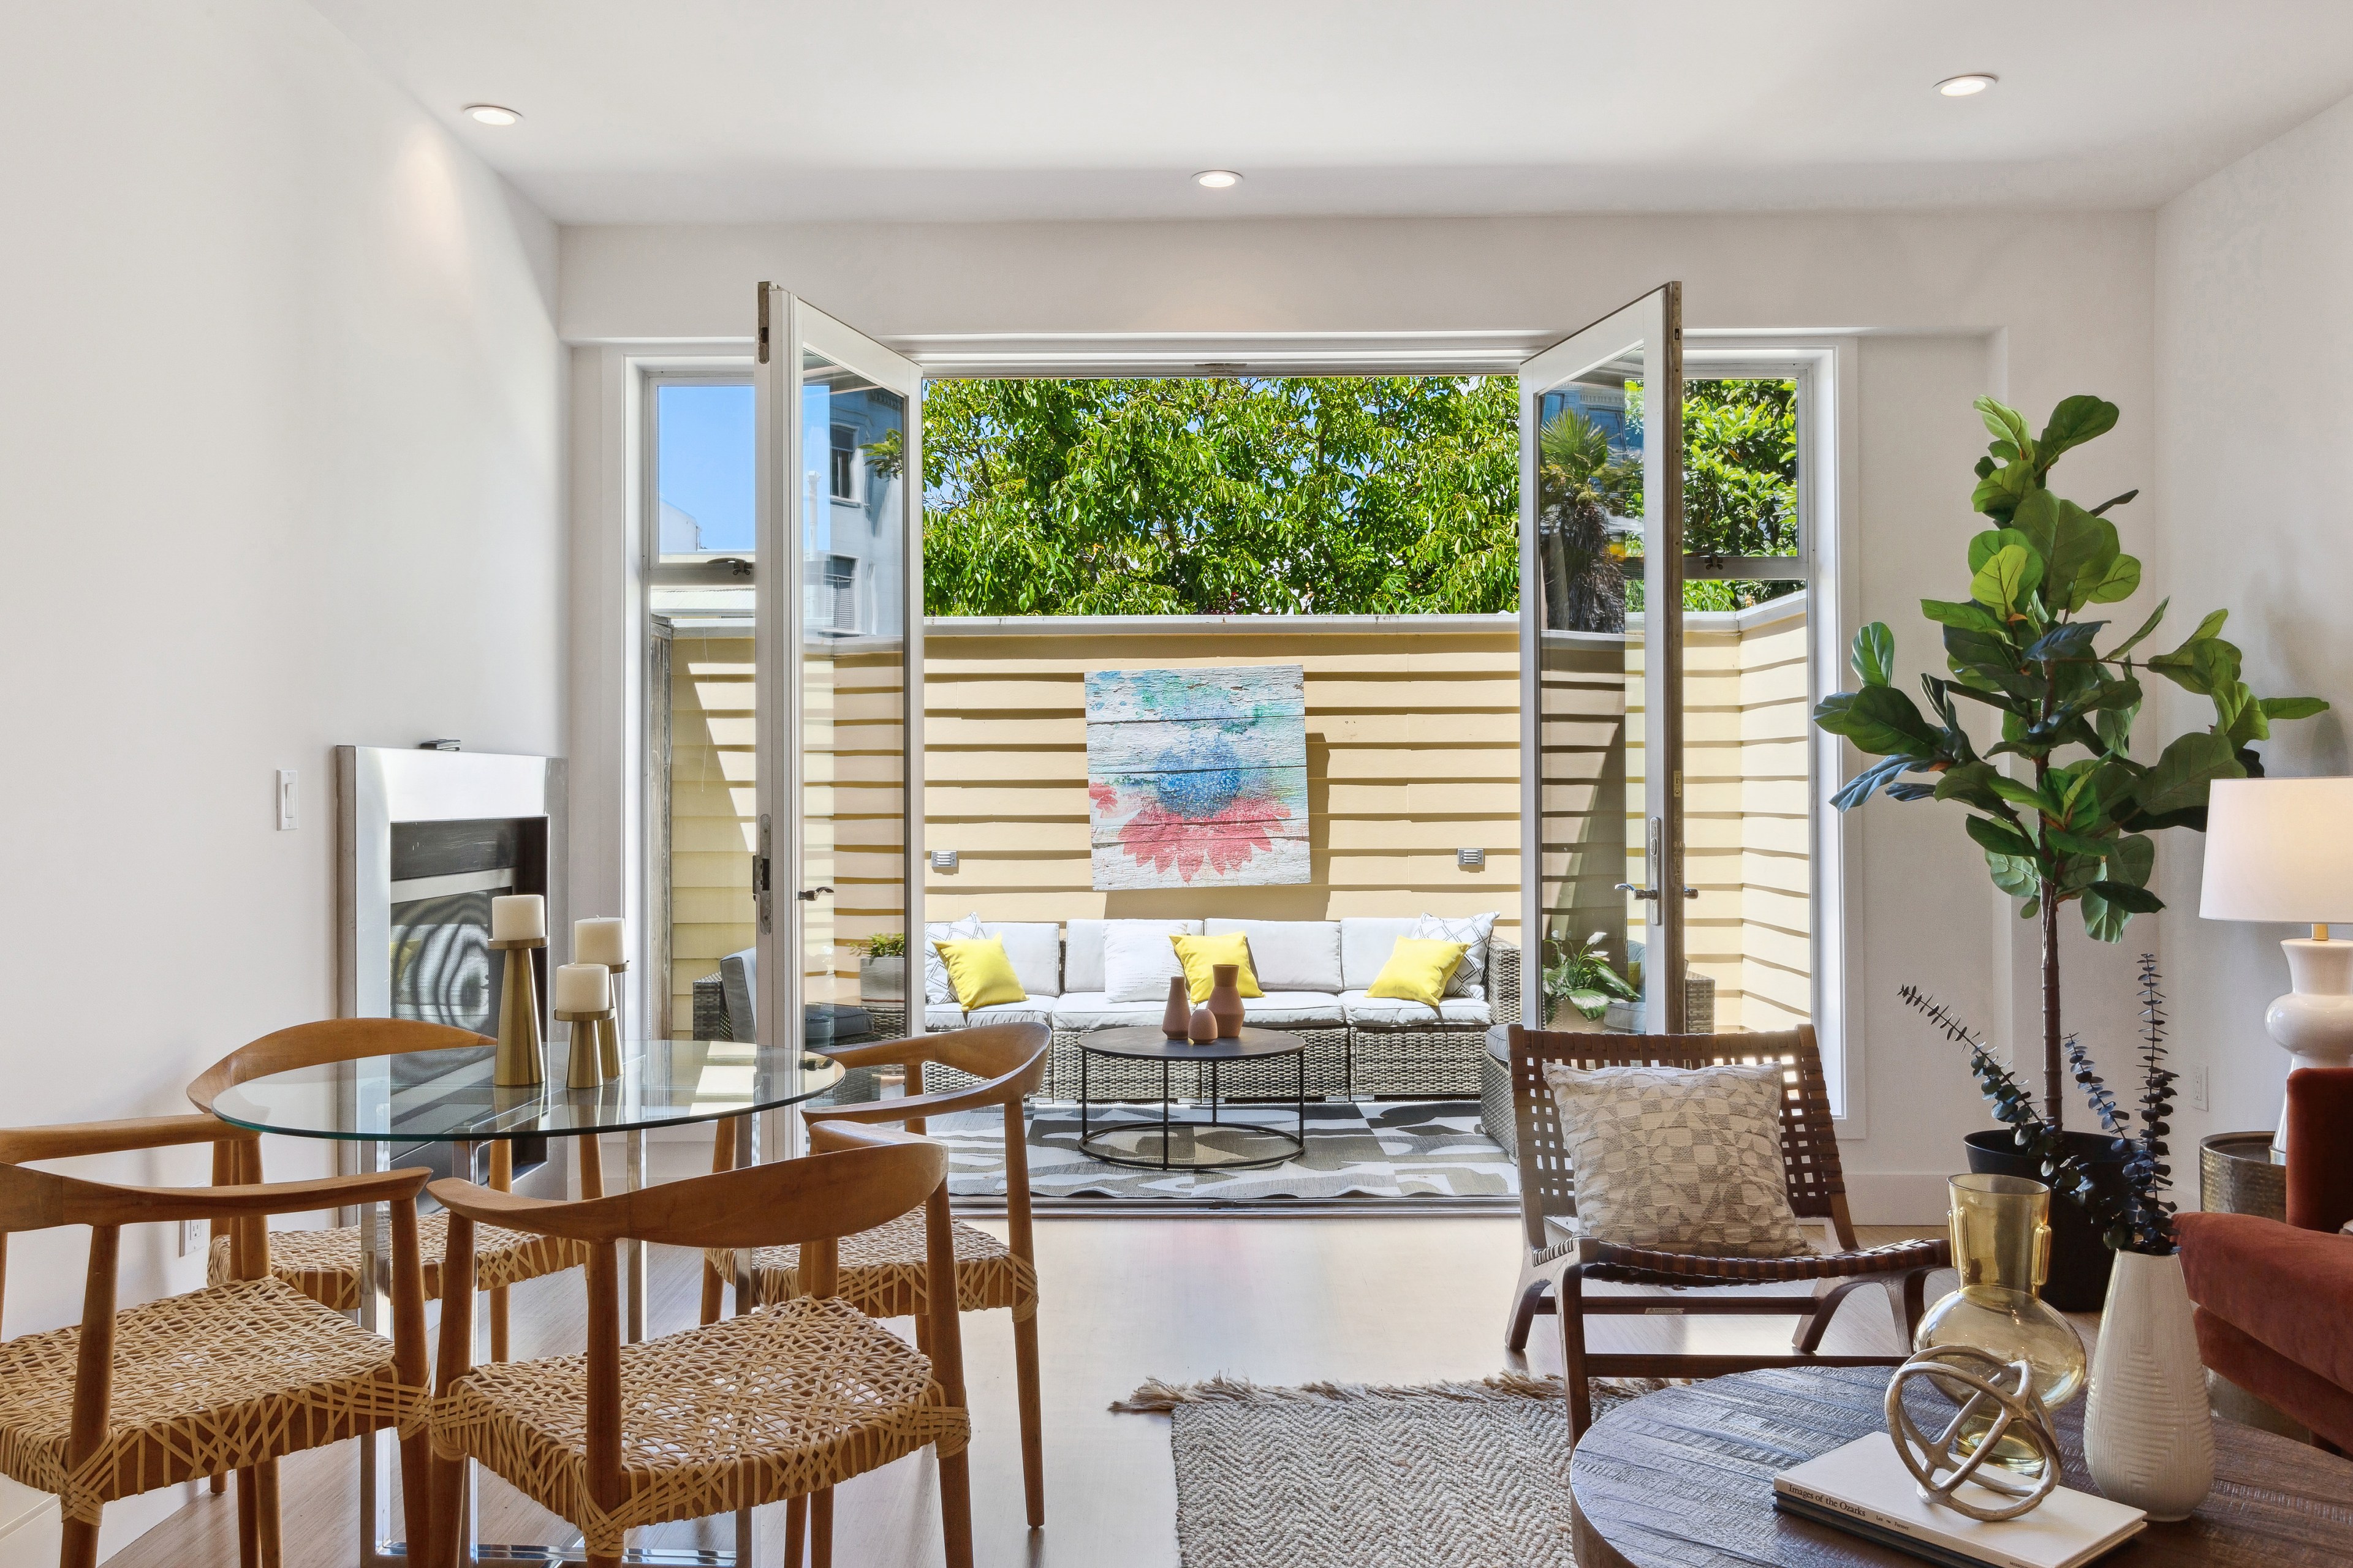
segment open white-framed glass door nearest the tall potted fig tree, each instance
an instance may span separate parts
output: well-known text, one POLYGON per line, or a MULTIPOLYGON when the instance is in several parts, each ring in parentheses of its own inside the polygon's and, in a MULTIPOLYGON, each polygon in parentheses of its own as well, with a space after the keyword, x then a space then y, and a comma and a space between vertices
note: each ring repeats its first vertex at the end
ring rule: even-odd
POLYGON ((1591 950, 1685 1030, 1682 284, 1520 364, 1522 1018, 1591 950))

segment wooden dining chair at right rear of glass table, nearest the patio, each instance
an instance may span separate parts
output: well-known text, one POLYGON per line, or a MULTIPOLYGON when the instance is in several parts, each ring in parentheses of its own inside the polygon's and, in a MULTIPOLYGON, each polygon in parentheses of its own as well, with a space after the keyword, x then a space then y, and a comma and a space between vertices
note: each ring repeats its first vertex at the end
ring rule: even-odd
MULTIPOLYGON (((842 1046, 828 1051, 842 1067, 906 1067, 906 1098, 871 1100, 866 1105, 828 1105, 802 1110, 809 1126, 842 1121, 904 1121, 911 1133, 925 1131, 927 1117, 948 1117, 986 1105, 1005 1107, 1005 1229, 998 1241, 984 1229, 955 1222, 955 1305, 962 1312, 988 1312, 1007 1307, 1014 1314, 1014 1378, 1021 1406, 1021 1488, 1028 1505, 1031 1528, 1045 1523, 1045 1446, 1040 1439, 1038 1403, 1038 1253, 1031 1237, 1028 1192, 1028 1124, 1021 1103, 1038 1091, 1045 1079, 1047 1048, 1054 1032, 1042 1023, 998 1023, 979 1030, 948 1030, 918 1039, 892 1039, 873 1046, 842 1046), (965 1088, 925 1093, 922 1070, 929 1063, 955 1067, 981 1079, 965 1088)), ((732 1124, 720 1124, 713 1147, 713 1168, 725 1171, 734 1161, 732 1124)), ((720 1288, 736 1279, 739 1258, 713 1251, 704 1265, 704 1321, 720 1314, 720 1288)), ((866 1316, 913 1316, 918 1345, 925 1342, 925 1324, 932 1291, 929 1260, 925 1255, 922 1227, 913 1215, 892 1220, 878 1229, 847 1237, 840 1244, 835 1274, 840 1298, 866 1316)), ((800 1253, 791 1246, 760 1248, 751 1258, 753 1305, 781 1302, 807 1293, 800 1272, 800 1253)), ((736 1312, 744 1302, 736 1302, 736 1312)))

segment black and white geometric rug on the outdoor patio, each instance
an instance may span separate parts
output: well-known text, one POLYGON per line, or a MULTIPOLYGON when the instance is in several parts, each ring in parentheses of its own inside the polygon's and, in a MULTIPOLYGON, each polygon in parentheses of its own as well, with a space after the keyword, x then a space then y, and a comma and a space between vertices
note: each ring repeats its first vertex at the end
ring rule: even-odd
MULTIPOLYGON (((1207 1110, 1179 1103, 1176 1121, 1207 1110)), ((1289 1105, 1221 1105, 1219 1126, 1179 1128, 1174 1159, 1254 1159, 1273 1143, 1252 1126, 1297 1128, 1289 1105)), ((1113 1150, 1160 1157, 1158 1105, 1096 1105, 1087 1128, 1113 1150)), ((951 1150, 948 1192, 1005 1197, 1005 1119, 998 1110, 934 1117, 927 1135, 951 1150)), ((1078 1105, 1033 1100, 1033 1199, 1247 1204, 1259 1199, 1515 1199, 1520 1173, 1478 1128, 1478 1100, 1308 1100, 1306 1154, 1257 1171, 1132 1171, 1078 1147, 1078 1105)))

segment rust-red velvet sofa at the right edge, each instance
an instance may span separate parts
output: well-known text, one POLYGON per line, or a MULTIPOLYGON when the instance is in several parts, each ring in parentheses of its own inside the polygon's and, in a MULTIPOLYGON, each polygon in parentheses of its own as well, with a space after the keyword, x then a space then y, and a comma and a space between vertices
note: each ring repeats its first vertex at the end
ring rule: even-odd
POLYGON ((2186 1213, 2198 1356, 2353 1450, 2353 1067, 2287 1074, 2287 1225, 2186 1213))

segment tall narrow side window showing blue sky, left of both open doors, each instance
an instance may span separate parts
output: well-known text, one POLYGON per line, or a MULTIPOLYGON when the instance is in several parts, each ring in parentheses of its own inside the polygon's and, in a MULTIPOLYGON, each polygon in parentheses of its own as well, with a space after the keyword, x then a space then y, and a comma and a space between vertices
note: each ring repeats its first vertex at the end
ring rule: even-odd
POLYGON ((758 910, 753 386, 649 383, 647 879, 652 1027, 751 1039, 758 910))

